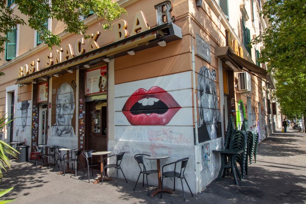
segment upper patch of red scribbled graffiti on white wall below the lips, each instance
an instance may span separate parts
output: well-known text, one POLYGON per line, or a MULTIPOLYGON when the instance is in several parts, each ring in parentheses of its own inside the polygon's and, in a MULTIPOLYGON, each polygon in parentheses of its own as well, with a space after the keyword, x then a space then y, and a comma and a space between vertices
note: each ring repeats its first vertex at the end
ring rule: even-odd
POLYGON ((190 144, 191 138, 186 138, 183 134, 179 134, 178 136, 174 136, 173 132, 170 128, 162 128, 160 131, 157 130, 149 130, 148 132, 149 140, 152 142, 167 142, 174 144, 190 144))

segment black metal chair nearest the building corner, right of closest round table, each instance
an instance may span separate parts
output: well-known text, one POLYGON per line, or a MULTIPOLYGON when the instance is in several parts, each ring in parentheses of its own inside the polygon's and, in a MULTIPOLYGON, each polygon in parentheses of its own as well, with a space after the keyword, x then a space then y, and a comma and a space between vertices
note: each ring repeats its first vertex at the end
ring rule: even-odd
MULTIPOLYGON (((182 184, 182 190, 183 190, 183 196, 184 196, 184 202, 186 202, 186 198, 185 198, 185 193, 184 193, 184 186, 183 186, 183 180, 185 180, 188 188, 189 188, 189 191, 193 197, 193 194, 191 192, 191 189, 187 183, 187 180, 184 176, 184 172, 185 172, 185 169, 186 169, 186 165, 187 165, 187 162, 188 162, 188 159, 189 157, 186 157, 184 159, 180 159, 180 160, 177 160, 177 161, 174 161, 174 162, 171 162, 169 164, 165 164, 162 166, 162 183, 164 181, 164 178, 174 178, 174 188, 173 190, 175 191, 175 178, 180 178, 181 179, 181 184, 182 184), (181 171, 180 172, 176 172, 175 169, 176 169, 176 165, 177 163, 181 162, 181 171), (173 165, 174 164, 174 171, 167 171, 167 172, 164 172, 164 167, 165 166, 169 166, 169 165, 173 165), (182 171, 183 170, 183 171, 182 171)), ((162 198, 162 189, 160 191, 160 198, 162 198)))

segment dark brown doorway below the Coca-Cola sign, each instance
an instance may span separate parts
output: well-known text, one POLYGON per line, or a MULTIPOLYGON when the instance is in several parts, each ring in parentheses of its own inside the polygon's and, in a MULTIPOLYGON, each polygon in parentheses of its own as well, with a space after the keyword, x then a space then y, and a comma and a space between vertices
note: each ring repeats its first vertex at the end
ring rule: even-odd
POLYGON ((86 150, 107 150, 106 100, 86 102, 86 150))

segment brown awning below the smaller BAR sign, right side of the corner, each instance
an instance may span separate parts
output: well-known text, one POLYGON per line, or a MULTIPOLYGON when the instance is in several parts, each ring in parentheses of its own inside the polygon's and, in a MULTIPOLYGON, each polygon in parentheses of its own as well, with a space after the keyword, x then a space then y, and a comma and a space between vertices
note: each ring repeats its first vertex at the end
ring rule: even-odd
POLYGON ((241 69, 256 74, 259 78, 267 80, 268 83, 270 83, 271 88, 275 89, 274 79, 270 72, 267 72, 265 69, 255 65, 253 62, 238 56, 229 46, 216 48, 215 55, 225 63, 230 61, 232 64, 236 65, 237 70, 234 71, 240 71, 239 69, 241 69))

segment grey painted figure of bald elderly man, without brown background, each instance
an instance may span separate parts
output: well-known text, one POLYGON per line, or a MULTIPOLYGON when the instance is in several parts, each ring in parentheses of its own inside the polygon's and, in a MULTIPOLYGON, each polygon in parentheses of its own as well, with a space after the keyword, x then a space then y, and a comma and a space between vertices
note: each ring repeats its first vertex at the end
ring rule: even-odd
POLYGON ((52 136, 75 137, 71 125, 74 108, 73 88, 68 83, 63 83, 56 96, 56 123, 52 126, 52 136))

